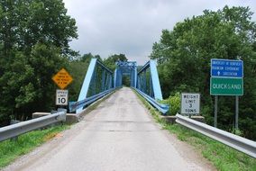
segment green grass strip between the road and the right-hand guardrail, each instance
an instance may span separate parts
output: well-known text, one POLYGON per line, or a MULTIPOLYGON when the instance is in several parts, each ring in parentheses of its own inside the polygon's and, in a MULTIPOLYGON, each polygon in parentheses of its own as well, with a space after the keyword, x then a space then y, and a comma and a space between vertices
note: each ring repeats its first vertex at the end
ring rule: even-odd
MULTIPOLYGON (((134 91, 135 94, 137 92, 134 91)), ((149 109, 153 118, 160 123, 163 129, 177 135, 178 139, 185 141, 199 150, 203 157, 212 162, 217 170, 256 171, 256 158, 247 156, 233 148, 230 148, 215 139, 210 139, 195 130, 187 129, 179 124, 170 124, 160 118, 160 112, 154 109, 150 103, 137 94, 142 103, 149 109)))

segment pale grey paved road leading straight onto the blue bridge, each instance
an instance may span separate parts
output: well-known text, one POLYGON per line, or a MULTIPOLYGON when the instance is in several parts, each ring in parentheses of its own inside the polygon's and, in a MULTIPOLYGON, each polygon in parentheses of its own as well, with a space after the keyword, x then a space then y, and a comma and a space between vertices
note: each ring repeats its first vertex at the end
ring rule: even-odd
POLYGON ((181 154, 133 91, 122 88, 90 112, 84 121, 6 170, 181 171, 211 168, 181 154))

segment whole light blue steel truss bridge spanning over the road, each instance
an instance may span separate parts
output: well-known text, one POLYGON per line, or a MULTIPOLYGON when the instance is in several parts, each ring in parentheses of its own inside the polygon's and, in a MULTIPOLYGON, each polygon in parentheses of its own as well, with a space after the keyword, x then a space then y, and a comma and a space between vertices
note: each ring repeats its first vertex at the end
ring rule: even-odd
POLYGON ((117 61, 114 73, 97 58, 92 58, 87 69, 78 102, 69 102, 69 112, 82 112, 90 103, 122 87, 123 76, 130 77, 130 86, 163 114, 169 106, 160 103, 162 94, 157 67, 148 61, 138 71, 135 61, 117 61))

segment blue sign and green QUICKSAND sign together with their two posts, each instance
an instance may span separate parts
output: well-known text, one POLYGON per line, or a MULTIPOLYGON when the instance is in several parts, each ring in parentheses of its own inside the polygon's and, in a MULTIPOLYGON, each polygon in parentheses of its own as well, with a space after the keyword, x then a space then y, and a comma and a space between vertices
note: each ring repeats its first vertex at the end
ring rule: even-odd
POLYGON ((235 95, 234 127, 238 130, 239 96, 243 94, 242 60, 211 59, 210 94, 215 95, 215 127, 217 127, 218 95, 235 95))

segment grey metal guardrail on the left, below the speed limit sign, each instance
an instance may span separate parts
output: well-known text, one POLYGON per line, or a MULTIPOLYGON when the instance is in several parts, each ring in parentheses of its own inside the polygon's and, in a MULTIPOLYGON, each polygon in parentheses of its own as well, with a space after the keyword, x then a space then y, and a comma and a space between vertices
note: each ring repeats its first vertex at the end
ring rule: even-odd
POLYGON ((45 127, 47 125, 50 125, 51 123, 66 121, 66 113, 67 111, 56 112, 54 114, 42 116, 40 118, 32 119, 29 121, 22 121, 13 125, 0 128, 0 142, 6 139, 14 138, 31 130, 45 127))

